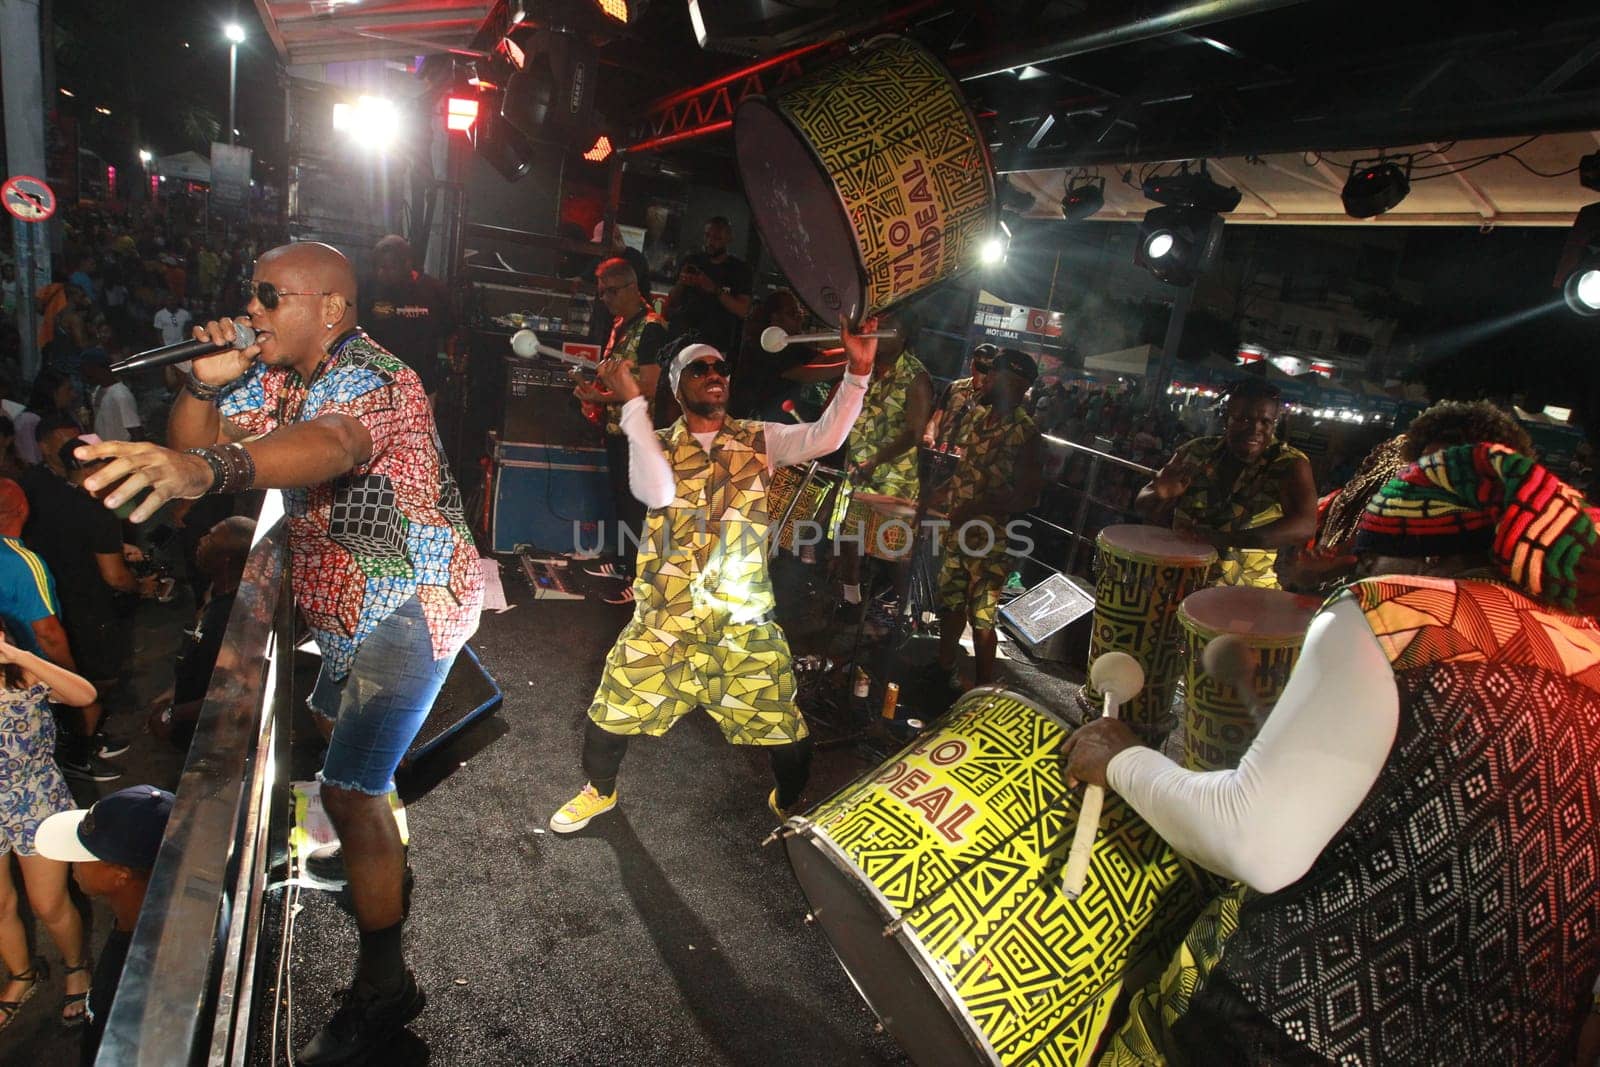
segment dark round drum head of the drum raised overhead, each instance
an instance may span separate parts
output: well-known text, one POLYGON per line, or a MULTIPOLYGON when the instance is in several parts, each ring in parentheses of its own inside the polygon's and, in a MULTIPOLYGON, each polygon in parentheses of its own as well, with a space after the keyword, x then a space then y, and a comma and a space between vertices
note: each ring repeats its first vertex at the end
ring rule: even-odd
POLYGON ((739 104, 733 141, 750 213, 795 296, 830 326, 854 322, 867 283, 861 251, 811 146, 763 98, 739 104))

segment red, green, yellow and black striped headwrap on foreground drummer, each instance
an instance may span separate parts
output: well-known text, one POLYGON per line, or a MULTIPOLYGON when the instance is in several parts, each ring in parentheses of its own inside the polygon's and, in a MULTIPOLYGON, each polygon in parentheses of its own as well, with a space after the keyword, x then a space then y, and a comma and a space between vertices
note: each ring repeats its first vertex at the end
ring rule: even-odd
POLYGON ((1536 461, 1504 445, 1422 456, 1366 506, 1357 550, 1371 555, 1483 552, 1528 595, 1600 613, 1600 512, 1536 461))

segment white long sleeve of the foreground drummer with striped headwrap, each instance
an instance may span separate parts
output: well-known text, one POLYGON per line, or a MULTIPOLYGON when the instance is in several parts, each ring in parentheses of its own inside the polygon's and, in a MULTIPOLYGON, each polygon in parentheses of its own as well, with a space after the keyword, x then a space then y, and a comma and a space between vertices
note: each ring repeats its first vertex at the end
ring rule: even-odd
POLYGON ((1394 747, 1400 693, 1349 597, 1312 619, 1283 696, 1232 771, 1189 771, 1146 747, 1107 785, 1182 856, 1274 893, 1301 878, 1355 814, 1394 747))

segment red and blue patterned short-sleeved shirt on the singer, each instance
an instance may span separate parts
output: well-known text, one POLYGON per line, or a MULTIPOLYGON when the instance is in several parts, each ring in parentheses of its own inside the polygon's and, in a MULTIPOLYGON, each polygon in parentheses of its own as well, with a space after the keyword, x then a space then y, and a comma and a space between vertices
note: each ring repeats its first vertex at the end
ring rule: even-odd
POLYGON ((411 597, 422 601, 434 657, 478 625, 483 571, 416 373, 365 334, 338 346, 307 389, 298 373, 256 363, 218 408, 250 437, 344 414, 373 438, 371 458, 338 478, 286 490, 294 605, 334 677, 411 597))

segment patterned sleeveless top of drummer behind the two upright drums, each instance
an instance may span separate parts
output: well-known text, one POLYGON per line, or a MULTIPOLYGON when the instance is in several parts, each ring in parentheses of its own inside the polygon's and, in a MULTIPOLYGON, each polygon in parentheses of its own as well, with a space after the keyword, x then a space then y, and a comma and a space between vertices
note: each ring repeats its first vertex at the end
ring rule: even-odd
MULTIPOLYGON (((1178 446, 1173 461, 1186 461, 1197 474, 1178 498, 1173 530, 1219 530, 1238 533, 1256 530, 1283 518, 1278 488, 1298 462, 1309 462, 1306 453, 1285 442, 1267 445, 1256 459, 1245 464, 1232 490, 1221 485, 1219 470, 1227 445, 1221 437, 1197 437, 1178 446)), ((1219 584, 1277 589, 1272 565, 1277 549, 1227 549, 1218 561, 1219 584)))

